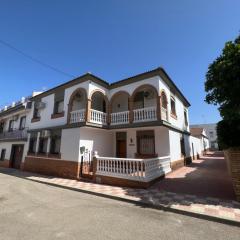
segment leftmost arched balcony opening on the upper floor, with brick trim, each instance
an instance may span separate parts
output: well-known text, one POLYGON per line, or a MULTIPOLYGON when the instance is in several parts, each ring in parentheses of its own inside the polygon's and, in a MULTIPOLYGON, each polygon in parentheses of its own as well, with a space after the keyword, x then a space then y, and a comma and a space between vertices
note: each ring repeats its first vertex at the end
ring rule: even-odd
POLYGON ((83 88, 75 90, 70 97, 68 104, 68 122, 78 123, 85 122, 87 109, 87 93, 83 88))

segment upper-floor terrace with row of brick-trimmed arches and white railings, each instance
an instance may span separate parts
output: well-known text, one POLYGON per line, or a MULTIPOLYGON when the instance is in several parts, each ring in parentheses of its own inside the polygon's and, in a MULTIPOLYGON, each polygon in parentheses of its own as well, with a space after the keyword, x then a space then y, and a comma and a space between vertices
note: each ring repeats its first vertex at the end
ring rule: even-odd
POLYGON ((125 91, 115 93, 109 100, 101 91, 87 99, 85 89, 77 89, 69 101, 68 123, 90 122, 100 126, 168 121, 167 97, 151 85, 137 88, 130 96, 125 91))

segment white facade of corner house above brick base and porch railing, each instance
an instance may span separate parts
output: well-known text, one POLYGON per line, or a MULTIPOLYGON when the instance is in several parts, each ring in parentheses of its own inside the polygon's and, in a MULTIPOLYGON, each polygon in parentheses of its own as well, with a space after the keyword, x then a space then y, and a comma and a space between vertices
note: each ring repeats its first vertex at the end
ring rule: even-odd
MULTIPOLYGON (((200 155, 200 143, 189 133, 190 104, 161 71, 114 84, 86 74, 37 95, 31 109, 23 112, 28 142, 24 143, 22 161, 31 152, 58 161, 80 162, 83 148, 103 157, 119 157, 119 151, 125 151, 125 158, 169 156, 171 162, 192 157, 192 146, 200 155), (63 111, 55 112, 59 96, 63 111), (41 107, 36 107, 37 103, 41 107), (119 140, 121 133, 124 139, 119 140)), ((6 148, 8 157, 10 148, 6 148)))

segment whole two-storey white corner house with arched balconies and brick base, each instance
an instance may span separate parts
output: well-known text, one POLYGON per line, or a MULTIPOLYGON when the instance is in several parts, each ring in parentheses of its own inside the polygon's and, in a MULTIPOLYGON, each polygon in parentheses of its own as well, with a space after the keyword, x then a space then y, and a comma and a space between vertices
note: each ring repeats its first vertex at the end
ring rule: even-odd
POLYGON ((190 103, 162 68, 111 84, 87 73, 31 102, 23 170, 145 186, 203 151, 192 149, 190 103))

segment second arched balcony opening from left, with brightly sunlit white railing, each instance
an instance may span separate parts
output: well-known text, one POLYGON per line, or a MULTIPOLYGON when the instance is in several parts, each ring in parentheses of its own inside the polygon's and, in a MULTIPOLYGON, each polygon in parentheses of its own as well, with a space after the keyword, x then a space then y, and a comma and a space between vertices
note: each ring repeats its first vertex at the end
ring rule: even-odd
POLYGON ((95 91, 91 95, 90 122, 107 125, 108 124, 108 99, 100 91, 95 91))

